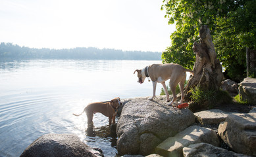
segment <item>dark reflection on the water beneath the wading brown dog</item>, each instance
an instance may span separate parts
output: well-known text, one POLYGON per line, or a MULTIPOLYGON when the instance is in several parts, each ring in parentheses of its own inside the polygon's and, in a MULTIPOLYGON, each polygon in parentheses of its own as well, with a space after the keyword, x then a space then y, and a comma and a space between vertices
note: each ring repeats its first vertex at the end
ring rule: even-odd
POLYGON ((116 148, 116 124, 111 124, 111 126, 101 126, 99 128, 95 128, 93 124, 90 124, 86 129, 86 136, 88 138, 93 137, 93 139, 94 137, 101 137, 103 139, 107 139, 107 141, 111 142, 111 147, 116 148))

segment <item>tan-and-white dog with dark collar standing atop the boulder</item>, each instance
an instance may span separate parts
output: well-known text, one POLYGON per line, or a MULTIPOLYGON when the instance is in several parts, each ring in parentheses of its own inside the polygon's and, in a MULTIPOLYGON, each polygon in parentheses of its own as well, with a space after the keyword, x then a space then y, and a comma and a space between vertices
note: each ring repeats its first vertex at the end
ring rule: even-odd
POLYGON ((172 91, 173 99, 168 103, 168 105, 172 105, 174 101, 176 101, 176 86, 179 84, 180 92, 182 93, 182 97, 180 99, 180 103, 183 103, 184 100, 184 84, 186 80, 186 71, 190 72, 193 75, 193 71, 190 69, 185 69, 182 65, 174 64, 174 63, 165 63, 165 64, 152 64, 143 69, 137 69, 134 73, 138 73, 138 82, 141 84, 144 82, 146 77, 150 77, 153 83, 153 96, 149 98, 153 100, 155 97, 155 90, 157 88, 157 82, 163 85, 165 89, 165 95, 167 97, 167 102, 170 101, 170 97, 168 91, 166 89, 165 81, 170 79, 170 90, 172 91))

